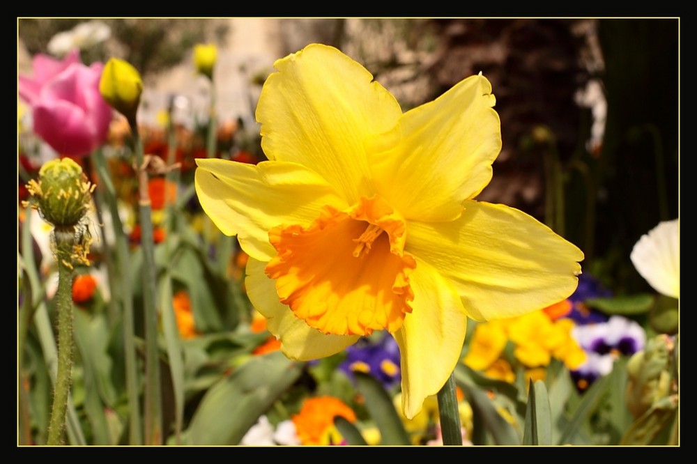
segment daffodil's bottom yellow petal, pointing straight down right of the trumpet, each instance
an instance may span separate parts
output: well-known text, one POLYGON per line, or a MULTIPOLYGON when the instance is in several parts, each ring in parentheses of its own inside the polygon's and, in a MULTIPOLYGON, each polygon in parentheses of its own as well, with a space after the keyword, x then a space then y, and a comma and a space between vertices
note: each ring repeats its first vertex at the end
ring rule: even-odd
POLYGON ((394 334, 401 353, 402 406, 408 419, 445 385, 460 359, 467 329, 457 291, 437 270, 419 261, 411 286, 413 311, 394 334))

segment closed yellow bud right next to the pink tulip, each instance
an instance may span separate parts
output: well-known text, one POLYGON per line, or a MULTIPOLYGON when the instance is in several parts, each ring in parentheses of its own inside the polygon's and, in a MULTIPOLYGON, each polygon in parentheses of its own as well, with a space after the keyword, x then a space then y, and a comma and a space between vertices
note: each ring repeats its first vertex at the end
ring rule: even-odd
POLYGON ((121 59, 109 59, 102 72, 99 91, 112 108, 123 114, 131 125, 135 124, 143 93, 143 80, 136 68, 121 59))

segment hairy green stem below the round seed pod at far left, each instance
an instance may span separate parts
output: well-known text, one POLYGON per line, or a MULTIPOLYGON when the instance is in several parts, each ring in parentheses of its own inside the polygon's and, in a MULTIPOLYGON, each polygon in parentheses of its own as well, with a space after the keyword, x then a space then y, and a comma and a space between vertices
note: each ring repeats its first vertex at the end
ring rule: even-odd
POLYGON ((56 228, 56 261, 58 261, 58 290, 56 307, 58 309, 58 373, 54 387, 53 407, 48 428, 47 444, 63 444, 63 431, 66 427, 66 409, 70 394, 70 370, 72 369, 72 247, 75 245, 75 232, 56 228))

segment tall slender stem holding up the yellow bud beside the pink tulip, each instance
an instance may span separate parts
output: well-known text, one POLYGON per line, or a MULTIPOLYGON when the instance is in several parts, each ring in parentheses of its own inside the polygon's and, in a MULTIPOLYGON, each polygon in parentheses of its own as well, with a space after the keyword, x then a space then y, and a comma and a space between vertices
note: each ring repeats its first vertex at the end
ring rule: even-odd
POLYGON ((144 164, 143 141, 137 125, 131 130, 135 141, 138 176, 138 212, 143 250, 143 306, 145 313, 145 444, 162 444, 162 401, 160 396, 160 357, 158 353, 158 309, 155 304, 155 245, 153 219, 148 193, 148 171, 144 164))

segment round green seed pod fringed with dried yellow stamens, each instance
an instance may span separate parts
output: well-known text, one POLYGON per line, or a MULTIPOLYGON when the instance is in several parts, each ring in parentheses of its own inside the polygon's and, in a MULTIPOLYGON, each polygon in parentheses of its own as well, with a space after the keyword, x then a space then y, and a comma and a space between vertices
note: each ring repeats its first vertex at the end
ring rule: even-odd
POLYGON ((79 224, 86 215, 94 190, 82 167, 70 158, 46 162, 38 180, 26 186, 31 193, 31 206, 56 229, 68 229, 79 224))

